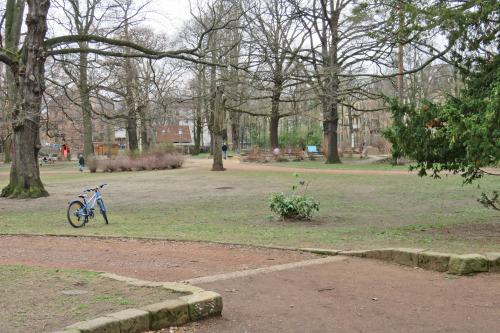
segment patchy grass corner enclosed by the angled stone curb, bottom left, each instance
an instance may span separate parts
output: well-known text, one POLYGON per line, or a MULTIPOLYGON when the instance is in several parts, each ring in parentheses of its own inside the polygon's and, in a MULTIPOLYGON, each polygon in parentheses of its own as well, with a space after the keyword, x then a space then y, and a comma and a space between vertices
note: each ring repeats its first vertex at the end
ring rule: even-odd
POLYGON ((127 286, 98 272, 6 265, 0 265, 0 287, 0 327, 11 333, 53 332, 180 296, 162 288, 127 286), (71 293, 82 289, 86 293, 71 293))

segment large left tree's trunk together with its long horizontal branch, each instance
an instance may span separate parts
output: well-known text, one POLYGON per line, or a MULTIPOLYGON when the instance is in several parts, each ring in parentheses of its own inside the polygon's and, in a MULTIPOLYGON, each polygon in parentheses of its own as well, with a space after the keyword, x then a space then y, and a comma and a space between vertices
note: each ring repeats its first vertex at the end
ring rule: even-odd
MULTIPOLYGON (((9 18, 10 31, 18 28, 9 36, 20 36, 23 0, 8 0, 5 16, 9 18)), ((47 57, 63 54, 94 53, 102 56, 130 58, 148 58, 158 60, 175 58, 197 63, 207 63, 200 53, 205 36, 214 29, 222 29, 227 25, 225 16, 217 16, 206 25, 197 47, 181 48, 175 50, 152 50, 142 45, 115 38, 98 35, 72 34, 45 38, 48 30, 47 14, 50 7, 49 0, 27 0, 28 26, 23 47, 18 49, 19 43, 13 42, 15 51, 6 48, 0 49, 0 61, 11 68, 15 86, 18 88, 15 105, 10 113, 14 131, 14 149, 10 183, 2 190, 2 196, 12 198, 40 197, 48 195, 40 180, 40 171, 37 155, 41 148, 39 141, 39 128, 41 119, 42 96, 45 91, 44 74, 47 57), (81 43, 87 42, 87 45, 81 43), (109 46, 122 47, 110 50, 109 46)), ((7 36, 7 35, 6 35, 7 36)), ((15 39, 15 38, 14 38, 15 39)))

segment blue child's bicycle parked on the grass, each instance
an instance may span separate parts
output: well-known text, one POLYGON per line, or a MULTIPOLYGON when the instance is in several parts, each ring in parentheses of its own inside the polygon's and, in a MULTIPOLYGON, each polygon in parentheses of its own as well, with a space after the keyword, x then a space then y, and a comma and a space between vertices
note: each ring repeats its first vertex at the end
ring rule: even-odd
POLYGON ((106 186, 107 184, 102 184, 94 189, 87 189, 83 192, 91 192, 94 191, 94 195, 89 199, 89 201, 85 201, 85 194, 80 194, 78 197, 83 199, 83 203, 79 200, 75 200, 69 203, 68 207, 68 221, 74 228, 83 227, 89 219, 94 218, 94 206, 97 203, 99 206, 99 210, 104 217, 104 221, 108 224, 108 217, 106 216, 106 207, 104 206, 104 201, 102 201, 99 190, 106 186), (89 207, 89 203, 92 202, 92 205, 89 207))

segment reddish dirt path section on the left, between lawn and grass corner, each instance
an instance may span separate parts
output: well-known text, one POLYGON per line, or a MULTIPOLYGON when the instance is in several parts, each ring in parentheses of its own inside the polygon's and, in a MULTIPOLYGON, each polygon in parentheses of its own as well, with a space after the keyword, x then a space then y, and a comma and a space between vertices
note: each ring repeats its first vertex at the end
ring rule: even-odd
POLYGON ((198 242, 0 236, 0 264, 105 271, 148 281, 181 281, 321 258, 198 242))

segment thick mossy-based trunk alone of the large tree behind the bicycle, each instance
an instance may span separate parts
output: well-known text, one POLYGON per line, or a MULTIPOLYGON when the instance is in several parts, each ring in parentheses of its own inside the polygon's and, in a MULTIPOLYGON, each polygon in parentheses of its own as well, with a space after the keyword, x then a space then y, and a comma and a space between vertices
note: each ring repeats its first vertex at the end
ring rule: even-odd
POLYGON ((10 183, 2 190, 3 197, 37 198, 48 196, 40 179, 38 151, 40 145, 40 112, 45 90, 45 55, 43 41, 47 31, 49 0, 27 0, 28 32, 19 64, 12 65, 19 87, 12 127, 14 146, 10 183))

